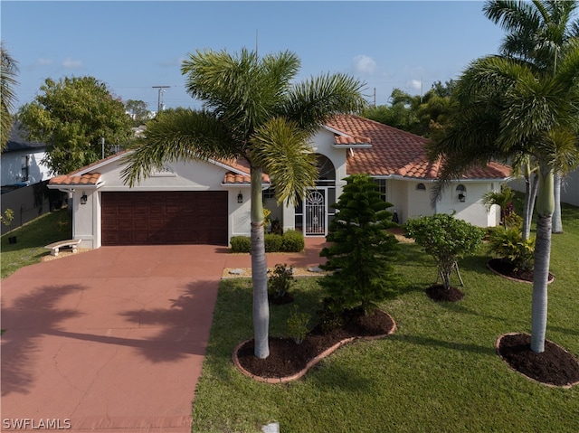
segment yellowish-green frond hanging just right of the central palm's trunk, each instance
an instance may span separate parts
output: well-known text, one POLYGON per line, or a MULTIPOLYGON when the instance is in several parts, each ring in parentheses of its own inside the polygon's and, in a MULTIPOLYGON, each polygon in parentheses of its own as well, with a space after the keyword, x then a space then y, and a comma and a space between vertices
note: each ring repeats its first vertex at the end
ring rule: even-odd
POLYGON ((278 203, 295 204, 303 190, 318 178, 316 155, 308 146, 310 135, 295 122, 272 118, 252 136, 252 164, 270 174, 278 203))

